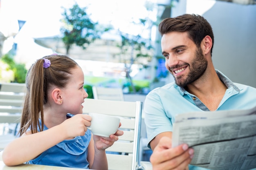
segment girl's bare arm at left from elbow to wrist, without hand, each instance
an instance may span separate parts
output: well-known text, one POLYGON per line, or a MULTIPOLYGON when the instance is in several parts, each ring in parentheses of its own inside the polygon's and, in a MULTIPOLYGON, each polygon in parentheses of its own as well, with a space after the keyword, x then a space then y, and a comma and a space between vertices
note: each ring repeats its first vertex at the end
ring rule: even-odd
POLYGON ((2 159, 7 166, 16 166, 34 159, 66 138, 61 126, 31 134, 28 131, 4 148, 2 159))

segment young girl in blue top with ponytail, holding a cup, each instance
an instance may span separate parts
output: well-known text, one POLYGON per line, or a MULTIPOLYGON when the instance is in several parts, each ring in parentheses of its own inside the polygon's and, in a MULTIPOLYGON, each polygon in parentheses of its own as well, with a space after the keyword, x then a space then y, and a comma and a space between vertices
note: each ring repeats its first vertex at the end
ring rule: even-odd
MULTIPOLYGON (((27 162, 51 166, 107 170, 105 149, 123 135, 92 135, 91 117, 82 113, 88 97, 79 65, 66 55, 37 60, 26 78, 20 136, 4 148, 7 166, 27 162)), ((121 124, 120 124, 121 126, 121 124)))

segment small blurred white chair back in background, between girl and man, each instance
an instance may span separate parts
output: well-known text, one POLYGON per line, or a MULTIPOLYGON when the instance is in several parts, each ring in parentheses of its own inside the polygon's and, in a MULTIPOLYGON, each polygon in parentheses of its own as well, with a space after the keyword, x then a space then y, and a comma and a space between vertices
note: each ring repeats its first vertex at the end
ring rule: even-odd
POLYGON ((124 101, 122 88, 92 86, 94 99, 124 101))

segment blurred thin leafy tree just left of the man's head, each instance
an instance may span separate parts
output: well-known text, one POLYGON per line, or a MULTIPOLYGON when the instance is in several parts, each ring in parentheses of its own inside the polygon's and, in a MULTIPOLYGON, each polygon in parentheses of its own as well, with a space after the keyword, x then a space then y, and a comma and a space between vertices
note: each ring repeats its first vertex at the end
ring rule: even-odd
MULTIPOLYGON (((150 13, 153 11, 153 3, 147 2, 145 7, 150 13)), ((121 62, 125 63, 126 67, 126 78, 128 79, 128 83, 132 88, 133 93, 136 93, 135 86, 132 83, 132 77, 130 76, 131 66, 134 63, 141 64, 144 68, 147 67, 148 62, 151 61, 153 57, 153 44, 151 40, 151 28, 153 25, 157 25, 156 22, 153 22, 149 17, 139 19, 138 21, 133 21, 133 24, 140 26, 141 30, 137 35, 129 35, 127 33, 123 33, 119 31, 119 35, 121 36, 121 45, 118 45, 121 49, 122 56, 121 62), (148 31, 148 38, 143 38, 142 33, 144 31, 148 31), (130 57, 127 57, 130 55, 130 57), (126 60, 129 58, 129 60, 126 60)))

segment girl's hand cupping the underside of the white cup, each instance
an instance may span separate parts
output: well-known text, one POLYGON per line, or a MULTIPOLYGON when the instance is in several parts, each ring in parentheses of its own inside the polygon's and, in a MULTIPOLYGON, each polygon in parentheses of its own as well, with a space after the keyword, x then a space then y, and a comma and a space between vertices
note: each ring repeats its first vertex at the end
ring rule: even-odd
MULTIPOLYGON (((119 127, 121 123, 119 123, 119 127)), ((97 135, 93 135, 94 145, 98 150, 105 150, 106 148, 112 146, 115 141, 118 140, 118 137, 123 135, 124 132, 122 130, 117 130, 115 134, 110 135, 109 137, 101 137, 97 135)))

